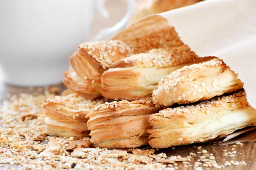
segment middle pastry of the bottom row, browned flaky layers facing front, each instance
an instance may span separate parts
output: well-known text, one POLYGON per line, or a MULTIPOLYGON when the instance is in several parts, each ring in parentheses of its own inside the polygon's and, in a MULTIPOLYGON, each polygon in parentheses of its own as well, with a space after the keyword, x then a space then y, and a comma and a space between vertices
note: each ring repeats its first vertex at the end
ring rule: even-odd
POLYGON ((87 115, 93 146, 134 148, 148 144, 146 130, 151 128, 148 117, 161 109, 152 98, 99 105, 87 115))

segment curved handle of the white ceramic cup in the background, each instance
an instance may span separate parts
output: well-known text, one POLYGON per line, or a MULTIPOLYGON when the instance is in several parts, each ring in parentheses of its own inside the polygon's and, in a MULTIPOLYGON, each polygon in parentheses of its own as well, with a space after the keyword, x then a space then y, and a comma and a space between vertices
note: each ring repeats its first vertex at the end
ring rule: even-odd
MULTIPOLYGON (((133 15, 135 0, 126 0, 126 3, 126 13, 122 20, 120 20, 118 23, 116 23, 116 25, 112 27, 101 29, 99 34, 93 38, 93 41, 104 40, 107 37, 111 37, 113 34, 126 26, 131 16, 133 15)), ((109 16, 108 11, 105 8, 105 0, 96 0, 96 11, 105 18, 109 16)))

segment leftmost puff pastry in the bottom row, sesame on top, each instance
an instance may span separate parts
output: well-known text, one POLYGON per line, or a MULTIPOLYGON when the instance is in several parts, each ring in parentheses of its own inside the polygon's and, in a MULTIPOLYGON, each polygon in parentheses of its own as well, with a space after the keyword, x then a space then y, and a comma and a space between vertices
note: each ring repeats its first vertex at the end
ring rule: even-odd
POLYGON ((68 96, 55 96, 46 99, 42 105, 48 134, 56 136, 88 136, 86 115, 94 107, 105 103, 107 100, 85 99, 78 94, 68 96))

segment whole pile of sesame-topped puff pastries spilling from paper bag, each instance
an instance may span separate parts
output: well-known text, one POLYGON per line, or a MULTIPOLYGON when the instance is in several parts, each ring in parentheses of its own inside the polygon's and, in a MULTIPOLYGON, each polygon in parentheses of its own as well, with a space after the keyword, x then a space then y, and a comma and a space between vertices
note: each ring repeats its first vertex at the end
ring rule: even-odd
POLYGON ((79 45, 64 73, 70 90, 43 104, 47 132, 90 136, 94 147, 164 148, 256 125, 237 74, 217 57, 198 57, 167 23, 157 26, 79 45))

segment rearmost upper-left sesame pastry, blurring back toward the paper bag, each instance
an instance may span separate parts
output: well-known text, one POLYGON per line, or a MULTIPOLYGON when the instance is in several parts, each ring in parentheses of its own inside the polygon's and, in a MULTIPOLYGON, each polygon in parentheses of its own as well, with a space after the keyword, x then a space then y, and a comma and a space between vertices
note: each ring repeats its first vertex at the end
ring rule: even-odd
POLYGON ((147 52, 152 48, 183 44, 174 27, 168 26, 165 20, 161 20, 160 23, 162 25, 159 25, 157 31, 145 30, 140 36, 130 37, 116 34, 110 41, 80 44, 78 50, 70 57, 70 64, 74 71, 64 74, 64 84, 72 91, 94 99, 100 96, 102 73, 114 62, 131 54, 147 52))

